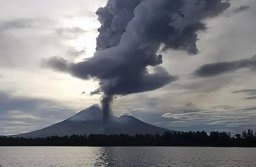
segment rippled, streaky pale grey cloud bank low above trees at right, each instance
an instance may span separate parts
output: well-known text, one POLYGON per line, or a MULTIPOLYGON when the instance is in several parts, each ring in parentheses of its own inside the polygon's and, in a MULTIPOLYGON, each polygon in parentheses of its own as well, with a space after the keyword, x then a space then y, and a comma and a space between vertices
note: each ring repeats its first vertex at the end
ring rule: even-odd
POLYGON ((203 126, 211 127, 211 130, 217 127, 227 127, 237 132, 238 129, 240 131, 244 130, 246 126, 255 126, 256 114, 255 106, 240 108, 222 105, 182 114, 165 113, 162 117, 174 119, 173 121, 157 122, 162 126, 203 126))

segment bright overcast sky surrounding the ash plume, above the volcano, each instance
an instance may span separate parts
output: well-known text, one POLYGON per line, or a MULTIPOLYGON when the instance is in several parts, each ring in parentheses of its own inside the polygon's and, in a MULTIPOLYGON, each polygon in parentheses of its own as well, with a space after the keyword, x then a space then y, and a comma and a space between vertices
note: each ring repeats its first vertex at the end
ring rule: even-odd
MULTIPOLYGON (((106 0, 0 3, 0 134, 44 128, 99 104, 100 95, 89 95, 97 82, 42 68, 40 62, 52 56, 74 62, 92 57, 100 27, 95 11, 106 0)), ((256 130, 255 9, 255 0, 232 0, 198 32, 197 55, 161 53, 162 66, 178 80, 115 98, 113 114, 172 130, 256 130), (236 10, 242 5, 250 8, 236 10)))

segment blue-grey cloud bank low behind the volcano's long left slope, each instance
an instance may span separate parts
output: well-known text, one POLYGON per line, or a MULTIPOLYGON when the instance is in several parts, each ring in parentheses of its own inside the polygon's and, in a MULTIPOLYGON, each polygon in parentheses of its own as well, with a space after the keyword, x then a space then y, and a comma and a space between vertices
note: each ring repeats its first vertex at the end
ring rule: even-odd
POLYGON ((78 109, 58 106, 57 102, 28 97, 12 97, 10 92, 0 92, 0 134, 6 130, 31 131, 44 128, 72 116, 78 109), (51 115, 55 115, 52 117, 51 115))

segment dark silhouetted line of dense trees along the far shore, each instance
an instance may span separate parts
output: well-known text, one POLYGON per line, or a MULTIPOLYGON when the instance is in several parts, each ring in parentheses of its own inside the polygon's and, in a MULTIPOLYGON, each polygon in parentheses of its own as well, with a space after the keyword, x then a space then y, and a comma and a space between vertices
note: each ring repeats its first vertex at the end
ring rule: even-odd
POLYGON ((23 138, 0 136, 0 146, 256 146, 252 129, 232 136, 227 132, 165 132, 159 134, 90 134, 23 138))

